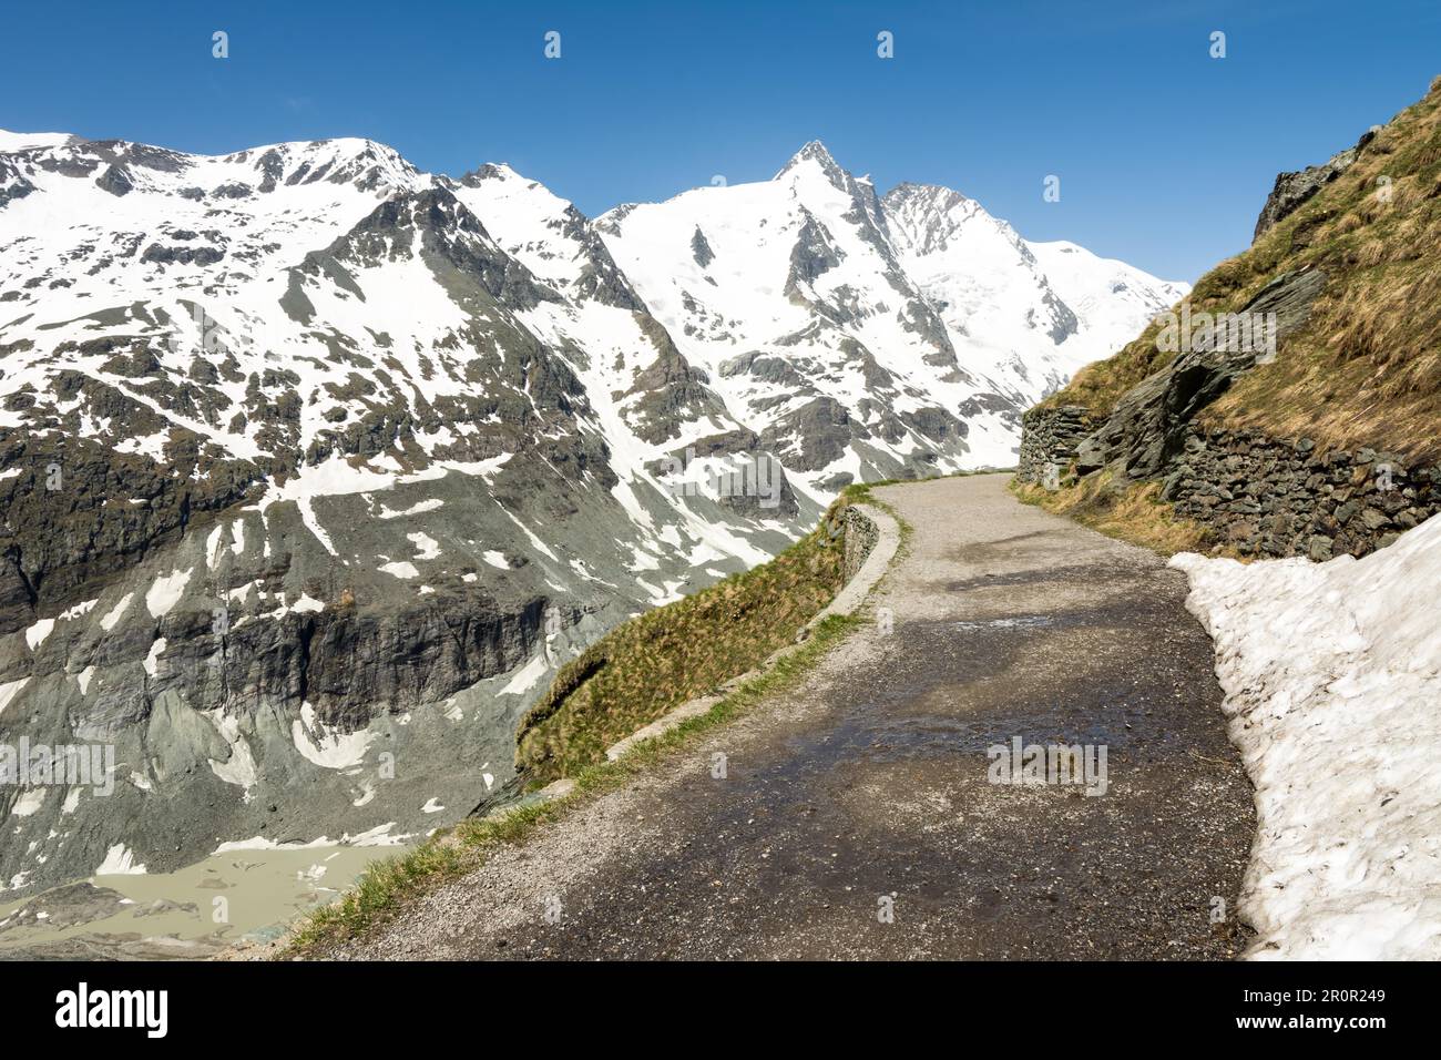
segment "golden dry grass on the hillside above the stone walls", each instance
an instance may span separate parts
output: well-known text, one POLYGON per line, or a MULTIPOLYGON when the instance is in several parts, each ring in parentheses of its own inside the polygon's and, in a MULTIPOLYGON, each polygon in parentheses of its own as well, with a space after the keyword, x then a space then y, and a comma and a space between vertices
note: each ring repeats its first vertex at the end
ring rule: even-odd
MULTIPOLYGON (((1200 423, 1441 457, 1441 78, 1333 183, 1202 277, 1192 310, 1238 312, 1267 281, 1304 267, 1329 277, 1310 320, 1200 423)), ((1157 350, 1157 332, 1151 324, 1045 404, 1110 412, 1173 356, 1157 350)))

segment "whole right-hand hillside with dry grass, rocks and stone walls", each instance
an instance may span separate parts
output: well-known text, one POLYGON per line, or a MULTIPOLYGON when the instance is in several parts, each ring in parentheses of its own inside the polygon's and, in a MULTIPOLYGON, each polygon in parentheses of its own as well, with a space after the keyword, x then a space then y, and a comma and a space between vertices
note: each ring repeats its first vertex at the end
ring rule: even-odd
POLYGON ((1022 476, 1160 480, 1242 554, 1393 542, 1441 511, 1438 235, 1441 78, 1323 166, 1282 173, 1252 247, 1183 313, 1029 411, 1022 476))

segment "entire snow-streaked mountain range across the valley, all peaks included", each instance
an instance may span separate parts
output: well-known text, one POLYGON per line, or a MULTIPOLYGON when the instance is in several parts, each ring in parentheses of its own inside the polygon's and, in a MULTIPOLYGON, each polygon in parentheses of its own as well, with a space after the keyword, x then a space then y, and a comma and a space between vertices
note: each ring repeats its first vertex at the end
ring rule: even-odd
POLYGON ((1009 464, 1183 290, 1055 247, 820 144, 592 222, 366 140, 0 133, 0 746, 115 759, 0 785, 0 887, 497 798, 571 649, 849 480, 1009 464))

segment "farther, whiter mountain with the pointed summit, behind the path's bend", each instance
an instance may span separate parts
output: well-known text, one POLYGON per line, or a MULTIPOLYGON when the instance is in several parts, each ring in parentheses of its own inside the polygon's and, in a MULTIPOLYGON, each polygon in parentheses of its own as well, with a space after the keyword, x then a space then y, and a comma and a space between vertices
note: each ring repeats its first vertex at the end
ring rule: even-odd
POLYGON ((687 359, 820 493, 1013 463, 1022 410, 1189 290, 1027 244, 947 187, 878 196, 820 143, 772 180, 597 226, 687 359))

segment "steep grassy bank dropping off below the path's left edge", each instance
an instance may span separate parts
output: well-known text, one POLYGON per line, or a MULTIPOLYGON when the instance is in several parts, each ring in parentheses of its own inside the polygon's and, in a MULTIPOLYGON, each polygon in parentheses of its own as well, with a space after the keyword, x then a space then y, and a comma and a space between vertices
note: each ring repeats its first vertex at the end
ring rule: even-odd
POLYGON ((604 761, 617 740, 794 642, 842 587, 846 503, 771 562, 646 611, 566 663, 520 725, 527 787, 604 761))

